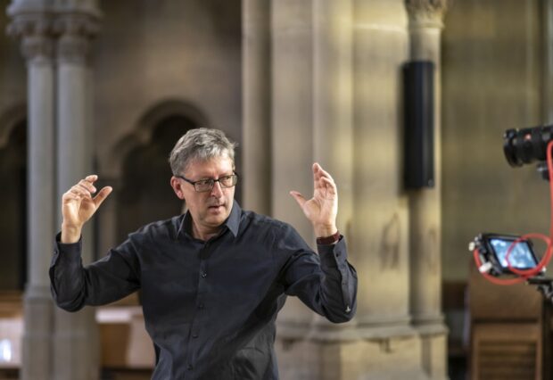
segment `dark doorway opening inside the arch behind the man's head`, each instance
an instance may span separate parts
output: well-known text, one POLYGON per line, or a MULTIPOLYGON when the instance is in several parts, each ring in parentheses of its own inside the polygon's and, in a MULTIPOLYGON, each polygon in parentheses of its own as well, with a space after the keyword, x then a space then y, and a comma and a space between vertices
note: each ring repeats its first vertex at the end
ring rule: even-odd
POLYGON ((148 145, 137 146, 123 160, 121 190, 118 194, 118 238, 155 220, 169 219, 183 209, 183 203, 169 185, 169 153, 177 139, 188 129, 196 128, 193 120, 180 114, 158 121, 148 145))

